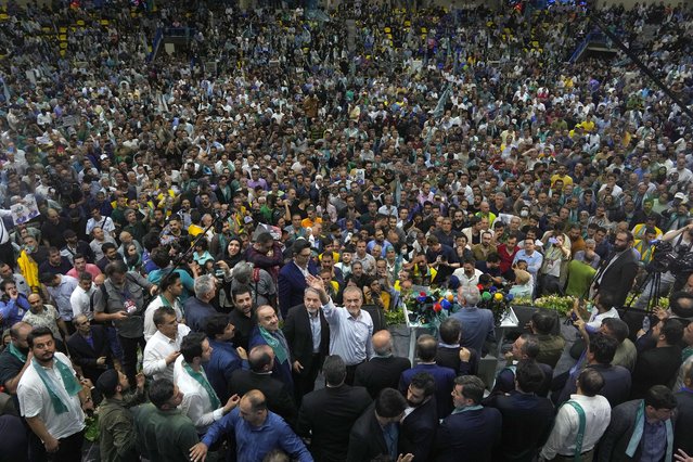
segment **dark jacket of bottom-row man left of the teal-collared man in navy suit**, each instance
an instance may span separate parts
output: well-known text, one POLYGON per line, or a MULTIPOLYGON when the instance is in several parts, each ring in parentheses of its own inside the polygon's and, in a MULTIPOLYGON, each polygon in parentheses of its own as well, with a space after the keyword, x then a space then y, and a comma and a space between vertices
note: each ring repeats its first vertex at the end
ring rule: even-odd
POLYGON ((428 401, 411 411, 399 427, 399 453, 412 453, 414 461, 428 461, 437 428, 436 397, 432 396, 428 401))

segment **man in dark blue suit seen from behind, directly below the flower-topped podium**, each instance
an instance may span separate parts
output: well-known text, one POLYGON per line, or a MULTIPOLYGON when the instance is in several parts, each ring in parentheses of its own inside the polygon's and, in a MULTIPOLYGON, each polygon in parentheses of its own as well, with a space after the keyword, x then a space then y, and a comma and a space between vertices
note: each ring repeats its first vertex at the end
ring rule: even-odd
POLYGON ((422 335, 416 341, 416 356, 419 363, 402 372, 399 378, 399 392, 407 394, 412 377, 419 372, 427 372, 435 380, 435 398, 438 418, 450 414, 452 406, 450 402, 450 394, 454 386, 454 377, 457 373, 450 368, 442 368, 436 364, 436 354, 438 352, 438 342, 433 335, 422 335))

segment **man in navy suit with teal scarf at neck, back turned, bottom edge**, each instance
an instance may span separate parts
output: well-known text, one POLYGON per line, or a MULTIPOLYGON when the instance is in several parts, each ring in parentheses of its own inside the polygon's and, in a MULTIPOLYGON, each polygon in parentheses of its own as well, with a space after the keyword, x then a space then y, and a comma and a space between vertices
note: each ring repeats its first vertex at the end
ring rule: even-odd
POLYGON ((444 419, 434 453, 436 462, 486 462, 500 442, 502 418, 498 409, 484 408, 484 382, 475 375, 454 380, 454 411, 444 419))

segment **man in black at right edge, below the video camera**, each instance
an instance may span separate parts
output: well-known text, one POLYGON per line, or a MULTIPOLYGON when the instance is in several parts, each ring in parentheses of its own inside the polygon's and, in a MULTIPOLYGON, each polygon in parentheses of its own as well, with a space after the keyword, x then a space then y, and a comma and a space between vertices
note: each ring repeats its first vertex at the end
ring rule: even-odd
POLYGON ((652 328, 654 348, 638 352, 633 369, 631 399, 643 398, 654 385, 669 386, 681 367, 683 324, 678 319, 659 321, 652 328))

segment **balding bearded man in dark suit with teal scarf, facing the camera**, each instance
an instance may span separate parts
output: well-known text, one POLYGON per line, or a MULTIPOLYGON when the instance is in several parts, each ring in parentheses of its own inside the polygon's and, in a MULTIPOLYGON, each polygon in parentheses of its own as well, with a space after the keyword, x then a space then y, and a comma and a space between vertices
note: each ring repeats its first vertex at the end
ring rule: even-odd
POLYGON ((257 325, 251 333, 248 348, 268 345, 274 351, 272 377, 281 381, 290 394, 294 393, 294 380, 291 374, 291 351, 284 333, 279 329, 277 311, 269 305, 257 308, 257 325))

